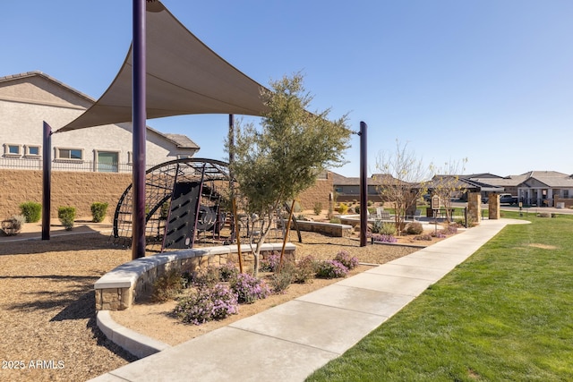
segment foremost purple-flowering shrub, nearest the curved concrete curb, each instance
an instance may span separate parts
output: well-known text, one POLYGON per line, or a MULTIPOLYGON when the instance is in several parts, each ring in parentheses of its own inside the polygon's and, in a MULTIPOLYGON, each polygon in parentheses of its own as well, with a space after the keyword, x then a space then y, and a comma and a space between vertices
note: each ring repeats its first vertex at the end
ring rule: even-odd
POLYGON ((226 284, 198 289, 181 299, 174 313, 184 322, 201 325, 207 321, 227 318, 239 311, 237 295, 226 284))

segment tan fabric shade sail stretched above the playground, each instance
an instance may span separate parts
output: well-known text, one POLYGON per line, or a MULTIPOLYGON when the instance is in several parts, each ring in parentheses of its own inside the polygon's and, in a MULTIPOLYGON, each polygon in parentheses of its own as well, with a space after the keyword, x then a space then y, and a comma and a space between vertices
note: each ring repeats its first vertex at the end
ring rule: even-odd
MULTIPOLYGON (((196 38, 159 1, 147 3, 147 118, 264 115, 261 85, 196 38)), ((132 121, 132 48, 98 101, 57 132, 132 121)))

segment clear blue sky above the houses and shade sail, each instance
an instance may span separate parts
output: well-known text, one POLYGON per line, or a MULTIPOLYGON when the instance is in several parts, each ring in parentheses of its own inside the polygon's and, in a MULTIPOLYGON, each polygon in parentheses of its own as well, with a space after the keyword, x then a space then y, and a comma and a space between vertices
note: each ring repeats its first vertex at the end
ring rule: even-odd
MULTIPOLYGON (((312 110, 368 123, 369 175, 396 140, 466 174, 573 174, 570 0, 164 0, 211 49, 262 85, 303 72, 312 110)), ((99 98, 131 43, 132 1, 11 1, 0 76, 41 71, 99 98)), ((225 159, 227 115, 149 120, 225 159)), ((358 176, 359 137, 350 162, 358 176)))

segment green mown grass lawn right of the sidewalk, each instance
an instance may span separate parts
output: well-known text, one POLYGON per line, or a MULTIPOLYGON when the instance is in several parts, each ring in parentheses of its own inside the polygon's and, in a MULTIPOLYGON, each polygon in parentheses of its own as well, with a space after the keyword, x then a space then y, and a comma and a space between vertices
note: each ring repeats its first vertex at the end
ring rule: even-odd
POLYGON ((573 380, 573 216, 527 220, 307 380, 573 380))

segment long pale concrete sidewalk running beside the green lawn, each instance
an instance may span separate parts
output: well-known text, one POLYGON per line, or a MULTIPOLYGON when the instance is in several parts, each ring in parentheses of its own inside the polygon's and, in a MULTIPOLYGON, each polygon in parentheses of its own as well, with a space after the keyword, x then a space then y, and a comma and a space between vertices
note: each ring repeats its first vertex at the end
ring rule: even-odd
POLYGON ((509 224, 484 220, 431 247, 244 318, 92 381, 303 381, 509 224))

